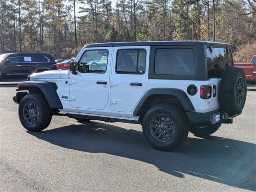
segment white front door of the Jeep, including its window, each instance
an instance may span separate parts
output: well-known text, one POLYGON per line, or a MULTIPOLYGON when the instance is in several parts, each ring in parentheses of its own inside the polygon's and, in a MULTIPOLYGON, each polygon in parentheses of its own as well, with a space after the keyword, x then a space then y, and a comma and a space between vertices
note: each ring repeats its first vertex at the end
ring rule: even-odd
POLYGON ((109 100, 112 47, 84 48, 77 74, 70 73, 70 105, 79 112, 103 110, 109 100))

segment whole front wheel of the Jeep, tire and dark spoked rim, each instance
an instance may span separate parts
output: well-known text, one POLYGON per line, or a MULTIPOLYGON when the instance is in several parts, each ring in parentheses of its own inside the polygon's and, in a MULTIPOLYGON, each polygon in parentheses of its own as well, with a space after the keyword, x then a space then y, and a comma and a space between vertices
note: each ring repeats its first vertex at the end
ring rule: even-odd
POLYGON ((19 104, 21 124, 29 131, 42 131, 52 120, 52 110, 43 95, 26 94, 19 104))

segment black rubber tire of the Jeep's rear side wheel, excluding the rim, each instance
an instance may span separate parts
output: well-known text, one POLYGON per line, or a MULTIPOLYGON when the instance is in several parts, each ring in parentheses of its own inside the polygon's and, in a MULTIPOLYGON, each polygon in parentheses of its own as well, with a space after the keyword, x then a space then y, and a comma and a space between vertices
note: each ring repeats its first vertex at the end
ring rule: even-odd
POLYGON ((158 104, 151 107, 142 120, 142 130, 145 139, 152 147, 164 151, 173 150, 186 140, 188 137, 188 126, 188 118, 185 112, 172 104, 158 104), (174 122, 174 135, 170 141, 159 142, 150 133, 150 122, 158 114, 166 114, 174 122))

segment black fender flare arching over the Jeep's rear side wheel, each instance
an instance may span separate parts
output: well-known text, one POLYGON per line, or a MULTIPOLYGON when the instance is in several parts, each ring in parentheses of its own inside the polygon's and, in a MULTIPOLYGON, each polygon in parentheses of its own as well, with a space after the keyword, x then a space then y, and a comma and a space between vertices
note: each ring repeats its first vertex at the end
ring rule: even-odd
POLYGON ((192 105, 190 99, 188 98, 188 95, 184 91, 180 89, 174 89, 174 88, 153 88, 148 90, 144 94, 144 96, 140 99, 140 101, 138 102, 138 104, 136 105, 133 111, 133 116, 135 117, 139 116, 140 108, 143 106, 144 102, 147 100, 147 98, 150 95, 155 95, 155 94, 176 96, 180 100, 185 111, 191 111, 191 112, 195 111, 194 106, 192 105))

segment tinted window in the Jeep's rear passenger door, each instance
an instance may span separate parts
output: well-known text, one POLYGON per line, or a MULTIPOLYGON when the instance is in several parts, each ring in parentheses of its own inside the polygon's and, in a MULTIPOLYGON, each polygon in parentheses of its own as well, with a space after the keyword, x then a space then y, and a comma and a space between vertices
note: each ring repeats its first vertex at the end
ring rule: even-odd
POLYGON ((117 52, 116 73, 144 74, 146 50, 121 49, 117 52))

